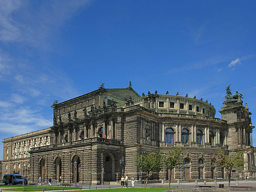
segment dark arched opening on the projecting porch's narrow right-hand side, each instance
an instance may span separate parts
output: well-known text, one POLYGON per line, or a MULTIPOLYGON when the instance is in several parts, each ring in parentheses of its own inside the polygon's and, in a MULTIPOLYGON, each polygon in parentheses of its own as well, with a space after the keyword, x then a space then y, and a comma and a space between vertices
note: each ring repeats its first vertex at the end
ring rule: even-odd
POLYGON ((105 158, 105 181, 115 181, 115 158, 107 154, 105 158))

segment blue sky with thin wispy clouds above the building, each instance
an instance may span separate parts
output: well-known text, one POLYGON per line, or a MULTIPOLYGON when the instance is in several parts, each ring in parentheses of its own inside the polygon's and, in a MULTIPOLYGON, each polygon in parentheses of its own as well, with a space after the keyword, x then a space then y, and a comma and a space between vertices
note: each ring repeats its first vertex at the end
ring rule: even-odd
POLYGON ((1 0, 0 140, 50 127, 55 99, 129 80, 140 95, 207 99, 219 118, 231 84, 255 125, 255 9, 255 1, 1 0))

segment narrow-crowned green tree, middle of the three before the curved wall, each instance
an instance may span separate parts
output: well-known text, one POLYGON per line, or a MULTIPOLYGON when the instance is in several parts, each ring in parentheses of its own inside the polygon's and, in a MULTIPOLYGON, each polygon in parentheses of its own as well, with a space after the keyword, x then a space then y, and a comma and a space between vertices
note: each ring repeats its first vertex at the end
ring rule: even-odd
POLYGON ((166 167, 166 169, 170 169, 170 177, 169 177, 169 189, 171 185, 171 176, 172 176, 172 169, 175 168, 177 165, 180 165, 181 162, 181 148, 175 147, 168 151, 165 155, 162 156, 162 162, 163 165, 166 167))

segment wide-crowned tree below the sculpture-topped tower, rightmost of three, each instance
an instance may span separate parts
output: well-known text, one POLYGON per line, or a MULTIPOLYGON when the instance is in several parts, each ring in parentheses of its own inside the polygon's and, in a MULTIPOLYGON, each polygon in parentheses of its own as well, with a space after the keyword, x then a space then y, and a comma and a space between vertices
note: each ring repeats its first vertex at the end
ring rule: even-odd
POLYGON ((213 163, 219 167, 227 169, 229 187, 230 178, 233 168, 242 169, 244 167, 243 150, 237 151, 236 153, 228 154, 224 150, 219 150, 218 153, 212 156, 213 163))

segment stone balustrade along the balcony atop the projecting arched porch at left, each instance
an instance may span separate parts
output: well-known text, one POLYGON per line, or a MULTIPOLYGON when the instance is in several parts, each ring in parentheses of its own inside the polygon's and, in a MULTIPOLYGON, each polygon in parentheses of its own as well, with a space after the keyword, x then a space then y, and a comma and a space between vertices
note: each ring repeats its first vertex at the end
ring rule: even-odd
POLYGON ((70 146, 70 145, 81 145, 81 144, 88 144, 88 143, 105 143, 105 144, 114 144, 114 145, 121 144, 120 140, 116 140, 116 139, 92 137, 92 138, 88 138, 88 139, 74 140, 72 142, 64 142, 64 143, 58 143, 58 144, 47 145, 47 146, 42 146, 42 147, 34 147, 34 148, 31 148, 31 151, 39 150, 39 149, 54 148, 54 147, 70 146))

